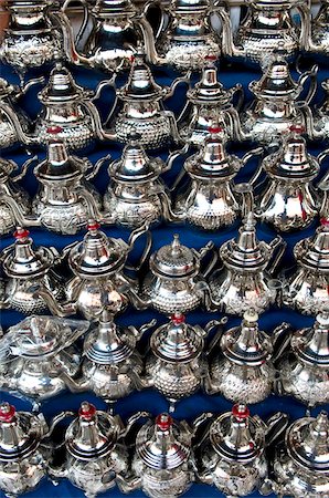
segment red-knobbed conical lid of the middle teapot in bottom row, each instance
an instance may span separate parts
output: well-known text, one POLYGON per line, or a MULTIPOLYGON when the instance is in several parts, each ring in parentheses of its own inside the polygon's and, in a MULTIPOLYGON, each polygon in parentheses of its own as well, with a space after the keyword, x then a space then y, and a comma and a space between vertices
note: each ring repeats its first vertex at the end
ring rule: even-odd
POLYGON ((162 413, 138 432, 136 453, 149 468, 172 470, 188 460, 191 448, 181 440, 180 426, 162 413))

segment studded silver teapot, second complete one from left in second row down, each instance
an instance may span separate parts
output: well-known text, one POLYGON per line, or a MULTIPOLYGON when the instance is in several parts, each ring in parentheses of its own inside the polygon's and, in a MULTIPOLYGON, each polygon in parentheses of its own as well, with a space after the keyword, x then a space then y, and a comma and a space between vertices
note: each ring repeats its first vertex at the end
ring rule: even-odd
POLYGON ((178 77, 171 86, 158 85, 139 48, 127 83, 116 89, 116 100, 105 123, 112 123, 112 128, 103 129, 103 138, 127 144, 130 134, 138 133, 139 144, 147 149, 180 142, 174 114, 164 111, 162 102, 173 95, 179 83, 188 81, 189 75, 178 77))

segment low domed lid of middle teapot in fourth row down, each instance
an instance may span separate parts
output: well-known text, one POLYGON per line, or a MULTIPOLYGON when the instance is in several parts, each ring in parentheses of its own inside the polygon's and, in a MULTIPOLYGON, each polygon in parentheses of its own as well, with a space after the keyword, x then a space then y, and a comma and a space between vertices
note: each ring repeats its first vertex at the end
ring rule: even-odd
POLYGON ((199 266, 197 252, 183 246, 178 234, 170 245, 162 246, 150 257, 150 269, 160 277, 190 277, 199 271, 199 266))

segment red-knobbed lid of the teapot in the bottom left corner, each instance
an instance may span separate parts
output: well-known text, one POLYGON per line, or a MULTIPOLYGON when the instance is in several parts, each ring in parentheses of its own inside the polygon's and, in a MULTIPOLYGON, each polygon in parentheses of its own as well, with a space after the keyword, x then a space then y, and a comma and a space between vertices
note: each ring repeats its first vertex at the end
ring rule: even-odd
POLYGON ((28 457, 41 438, 42 425, 35 416, 17 412, 9 403, 0 404, 0 461, 28 457))

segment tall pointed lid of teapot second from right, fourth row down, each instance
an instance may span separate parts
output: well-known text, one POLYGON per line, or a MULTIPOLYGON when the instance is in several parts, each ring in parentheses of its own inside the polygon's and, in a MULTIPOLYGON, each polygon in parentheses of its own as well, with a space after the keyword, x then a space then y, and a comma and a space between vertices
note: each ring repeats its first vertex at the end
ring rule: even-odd
POLYGON ((238 229, 237 239, 222 245, 220 256, 225 264, 243 270, 257 270, 268 263, 272 249, 257 240, 256 221, 252 212, 238 229))

